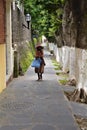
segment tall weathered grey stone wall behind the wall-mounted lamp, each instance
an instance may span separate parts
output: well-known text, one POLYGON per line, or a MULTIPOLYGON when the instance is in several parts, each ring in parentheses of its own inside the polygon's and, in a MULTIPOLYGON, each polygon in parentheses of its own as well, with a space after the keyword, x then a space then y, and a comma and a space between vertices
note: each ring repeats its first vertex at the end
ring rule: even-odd
POLYGON ((19 75, 20 62, 29 51, 31 27, 27 28, 24 12, 12 5, 12 45, 14 48, 14 77, 19 75))

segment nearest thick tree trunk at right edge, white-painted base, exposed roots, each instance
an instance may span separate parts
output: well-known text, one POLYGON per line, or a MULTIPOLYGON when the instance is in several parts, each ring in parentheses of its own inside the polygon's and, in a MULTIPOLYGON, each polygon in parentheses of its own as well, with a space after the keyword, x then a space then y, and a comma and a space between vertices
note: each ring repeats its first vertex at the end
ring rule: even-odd
POLYGON ((76 47, 77 89, 72 99, 87 100, 87 1, 69 0, 72 12, 71 46, 76 47))

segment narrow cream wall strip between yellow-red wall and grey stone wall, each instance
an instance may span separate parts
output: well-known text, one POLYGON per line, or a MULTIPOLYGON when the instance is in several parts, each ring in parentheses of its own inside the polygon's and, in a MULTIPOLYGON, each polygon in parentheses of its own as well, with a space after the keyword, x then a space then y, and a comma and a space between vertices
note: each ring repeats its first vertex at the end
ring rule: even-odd
POLYGON ((6 81, 13 75, 11 1, 6 1, 6 81))

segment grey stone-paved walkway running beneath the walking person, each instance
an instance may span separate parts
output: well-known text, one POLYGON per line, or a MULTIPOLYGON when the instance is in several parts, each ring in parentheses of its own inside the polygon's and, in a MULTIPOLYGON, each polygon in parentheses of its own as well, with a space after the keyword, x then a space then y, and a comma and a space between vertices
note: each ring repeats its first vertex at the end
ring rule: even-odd
POLYGON ((79 130, 45 53, 43 81, 29 68, 0 94, 0 130, 79 130))

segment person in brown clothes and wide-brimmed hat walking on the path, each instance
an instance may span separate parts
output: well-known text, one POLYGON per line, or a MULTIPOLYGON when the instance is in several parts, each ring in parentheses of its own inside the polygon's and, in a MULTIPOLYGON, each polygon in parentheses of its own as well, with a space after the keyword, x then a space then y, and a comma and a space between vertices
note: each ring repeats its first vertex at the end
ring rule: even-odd
POLYGON ((36 55, 35 58, 40 58, 41 63, 39 68, 35 68, 35 73, 38 75, 38 80, 42 80, 42 74, 44 73, 44 66, 45 66, 45 61, 43 58, 43 47, 41 45, 36 46, 36 55))

